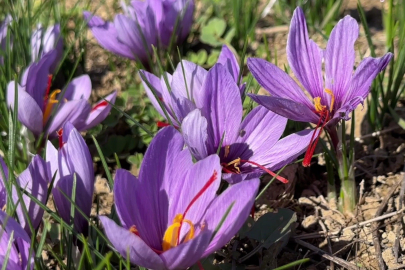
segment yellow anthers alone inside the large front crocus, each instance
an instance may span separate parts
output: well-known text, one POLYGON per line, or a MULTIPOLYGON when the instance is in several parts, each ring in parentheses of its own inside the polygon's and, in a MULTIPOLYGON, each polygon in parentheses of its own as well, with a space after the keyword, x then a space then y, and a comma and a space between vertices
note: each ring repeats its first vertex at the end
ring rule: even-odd
POLYGON ((188 219, 183 219, 182 214, 177 214, 173 219, 173 224, 170 225, 169 228, 167 228, 167 230, 165 231, 165 235, 163 236, 163 242, 162 242, 163 251, 167 251, 167 250, 177 246, 177 243, 179 242, 178 239, 180 236, 179 230, 180 230, 182 222, 185 222, 188 225, 190 225, 190 229, 189 229, 186 237, 184 238, 183 243, 194 238, 194 233, 195 233, 194 224, 188 219))

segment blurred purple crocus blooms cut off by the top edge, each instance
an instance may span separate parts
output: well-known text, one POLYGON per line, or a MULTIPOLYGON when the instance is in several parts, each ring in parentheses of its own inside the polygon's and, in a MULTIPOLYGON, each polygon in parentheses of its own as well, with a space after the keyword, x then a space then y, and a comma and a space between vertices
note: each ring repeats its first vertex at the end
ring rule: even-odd
POLYGON ((84 12, 88 27, 102 47, 117 55, 147 63, 152 45, 167 48, 173 35, 180 44, 190 32, 194 0, 146 0, 122 3, 124 14, 105 22, 84 12))

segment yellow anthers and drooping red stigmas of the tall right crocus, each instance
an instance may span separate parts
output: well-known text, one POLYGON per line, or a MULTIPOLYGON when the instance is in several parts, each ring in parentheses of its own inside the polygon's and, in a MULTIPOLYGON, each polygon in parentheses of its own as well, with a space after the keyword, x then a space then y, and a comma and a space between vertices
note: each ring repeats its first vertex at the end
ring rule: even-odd
POLYGON ((323 128, 326 126, 328 121, 331 119, 331 116, 333 113, 335 95, 333 94, 332 90, 330 90, 330 89, 325 89, 325 92, 331 96, 329 110, 326 108, 325 105, 321 104, 321 97, 314 98, 315 112, 317 114, 319 114, 319 121, 315 127, 314 133, 312 134, 311 141, 309 143, 307 152, 305 153, 304 161, 302 162, 302 165, 304 165, 304 167, 308 167, 309 165, 311 165, 311 159, 312 159, 312 156, 314 155, 314 151, 315 151, 316 145, 318 144, 319 137, 322 133, 323 128), (318 129, 319 129, 318 135, 316 135, 316 137, 315 137, 315 133, 318 129))

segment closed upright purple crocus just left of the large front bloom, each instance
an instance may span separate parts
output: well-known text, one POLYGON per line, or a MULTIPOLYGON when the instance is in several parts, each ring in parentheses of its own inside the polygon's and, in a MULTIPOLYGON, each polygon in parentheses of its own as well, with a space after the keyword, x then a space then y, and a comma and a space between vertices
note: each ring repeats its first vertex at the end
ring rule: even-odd
MULTIPOLYGON (((93 161, 86 142, 70 122, 66 122, 59 135, 58 150, 48 141, 46 160, 51 164, 52 175, 56 173, 52 190, 56 208, 63 220, 70 223, 71 203, 66 196, 72 196, 75 175, 75 203, 87 216, 90 215, 94 190, 93 161)), ((74 228, 83 234, 88 230, 86 219, 77 210, 74 228)))

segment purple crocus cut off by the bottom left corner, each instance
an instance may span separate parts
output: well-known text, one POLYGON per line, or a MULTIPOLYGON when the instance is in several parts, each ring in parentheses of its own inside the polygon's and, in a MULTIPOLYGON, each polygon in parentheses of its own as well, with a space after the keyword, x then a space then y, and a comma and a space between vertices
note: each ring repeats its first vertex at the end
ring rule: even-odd
POLYGON ((0 267, 3 267, 9 253, 5 269, 34 269, 33 251, 31 250, 30 258, 30 246, 31 239, 20 224, 0 211, 0 267))

